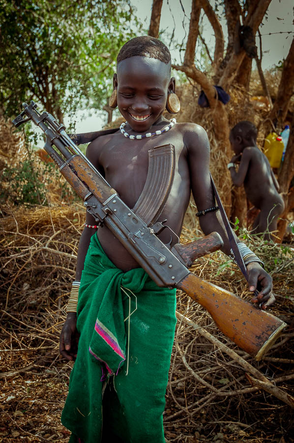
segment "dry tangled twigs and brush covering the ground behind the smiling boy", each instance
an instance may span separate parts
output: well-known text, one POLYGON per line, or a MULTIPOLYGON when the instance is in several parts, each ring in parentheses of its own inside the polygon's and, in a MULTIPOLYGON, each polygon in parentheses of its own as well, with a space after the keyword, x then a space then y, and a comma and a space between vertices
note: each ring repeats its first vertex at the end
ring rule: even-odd
MULTIPOLYGON (((193 212, 191 207, 182 242, 201 236, 193 212)), ((0 441, 68 440, 59 417, 71 364, 59 358, 58 340, 83 222, 82 205, 19 209, 0 219, 0 441)), ((291 442, 294 252, 246 231, 241 236, 265 261, 279 294, 272 312, 288 328, 257 363, 217 330, 203 308, 178 293, 164 414, 168 442, 291 442)), ((235 264, 221 252, 197 260, 193 271, 250 297, 235 264)))

